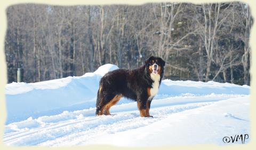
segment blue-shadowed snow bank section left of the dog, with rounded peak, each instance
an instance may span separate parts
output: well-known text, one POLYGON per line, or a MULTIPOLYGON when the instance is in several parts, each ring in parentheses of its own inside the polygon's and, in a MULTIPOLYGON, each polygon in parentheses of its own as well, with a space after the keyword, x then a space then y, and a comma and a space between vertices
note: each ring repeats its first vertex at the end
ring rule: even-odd
POLYGON ((37 83, 11 83, 5 87, 6 123, 28 117, 58 114, 65 110, 95 107, 100 78, 116 65, 106 64, 81 77, 65 77, 37 83))

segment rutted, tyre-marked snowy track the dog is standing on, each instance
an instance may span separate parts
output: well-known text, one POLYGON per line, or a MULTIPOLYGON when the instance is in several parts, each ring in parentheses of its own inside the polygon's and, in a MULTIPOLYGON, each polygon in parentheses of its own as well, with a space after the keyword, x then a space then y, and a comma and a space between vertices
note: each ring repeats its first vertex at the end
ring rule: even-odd
POLYGON ((137 129, 165 119, 173 113, 197 109, 216 101, 241 95, 178 96, 153 100, 150 114, 154 118, 141 118, 135 102, 116 105, 114 115, 95 117, 95 108, 65 111, 55 116, 27 119, 6 126, 3 142, 7 145, 71 146, 85 145, 107 134, 137 129))

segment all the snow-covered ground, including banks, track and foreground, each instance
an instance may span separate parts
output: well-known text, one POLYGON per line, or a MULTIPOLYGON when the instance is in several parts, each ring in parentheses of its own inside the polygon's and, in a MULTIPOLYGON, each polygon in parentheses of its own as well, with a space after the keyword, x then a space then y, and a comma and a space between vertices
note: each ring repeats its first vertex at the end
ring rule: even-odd
POLYGON ((163 80, 151 103, 153 118, 141 118, 137 103, 124 98, 110 109, 113 115, 96 117, 99 80, 117 68, 106 64, 81 77, 7 84, 4 143, 223 145, 223 137, 250 135, 250 86, 230 83, 163 80))

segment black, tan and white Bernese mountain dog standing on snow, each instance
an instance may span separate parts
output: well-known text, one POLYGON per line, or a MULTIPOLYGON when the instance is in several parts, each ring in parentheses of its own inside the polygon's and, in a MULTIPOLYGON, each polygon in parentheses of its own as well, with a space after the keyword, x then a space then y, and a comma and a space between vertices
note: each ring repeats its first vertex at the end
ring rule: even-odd
POLYGON ((123 96, 137 101, 141 117, 149 114, 150 103, 157 94, 164 74, 165 61, 151 56, 137 69, 117 69, 100 80, 97 93, 96 115, 109 115, 109 109, 123 96))

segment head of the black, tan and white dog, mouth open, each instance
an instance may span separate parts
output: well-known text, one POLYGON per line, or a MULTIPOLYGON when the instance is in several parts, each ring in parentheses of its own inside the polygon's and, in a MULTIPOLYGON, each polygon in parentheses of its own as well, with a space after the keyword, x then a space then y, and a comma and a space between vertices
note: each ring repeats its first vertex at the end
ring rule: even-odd
POLYGON ((145 61, 145 66, 149 74, 159 74, 163 76, 165 61, 160 57, 151 56, 145 61))

